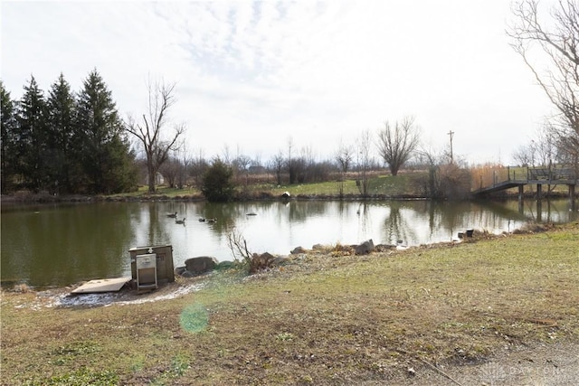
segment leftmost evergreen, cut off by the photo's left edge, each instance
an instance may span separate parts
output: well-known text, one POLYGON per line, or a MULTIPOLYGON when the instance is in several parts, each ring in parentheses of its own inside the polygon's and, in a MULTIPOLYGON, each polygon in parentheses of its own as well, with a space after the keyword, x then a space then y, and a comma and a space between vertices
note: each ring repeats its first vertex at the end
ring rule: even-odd
POLYGON ((1 151, 0 154, 0 187, 2 193, 12 189, 14 184, 15 163, 16 163, 16 119, 14 110, 14 101, 10 99, 10 93, 6 91, 4 83, 0 80, 0 126, 2 129, 1 151))

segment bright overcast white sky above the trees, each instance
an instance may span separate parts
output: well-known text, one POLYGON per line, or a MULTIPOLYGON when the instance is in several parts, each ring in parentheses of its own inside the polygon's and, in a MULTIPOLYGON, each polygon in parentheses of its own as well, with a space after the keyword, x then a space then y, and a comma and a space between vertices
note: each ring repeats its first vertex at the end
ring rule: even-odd
MULTIPOLYGON (((550 4, 554 1, 544 1, 550 4)), ((318 159, 413 116, 429 147, 513 164, 552 108, 508 45, 508 0, 2 1, 1 78, 20 99, 99 71, 121 117, 176 82, 186 149, 318 159)))

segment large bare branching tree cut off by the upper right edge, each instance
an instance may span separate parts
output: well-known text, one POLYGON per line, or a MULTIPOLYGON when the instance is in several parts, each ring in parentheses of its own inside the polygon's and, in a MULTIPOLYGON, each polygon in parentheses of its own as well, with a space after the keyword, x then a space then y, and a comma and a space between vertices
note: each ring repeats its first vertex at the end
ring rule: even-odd
POLYGON ((537 0, 513 6, 515 24, 508 29, 511 45, 535 75, 558 110, 551 129, 565 159, 579 164, 579 2, 559 0, 551 20, 539 15, 537 0), (541 63, 541 64, 539 64, 541 63), (547 63, 542 68, 542 63, 547 63))

